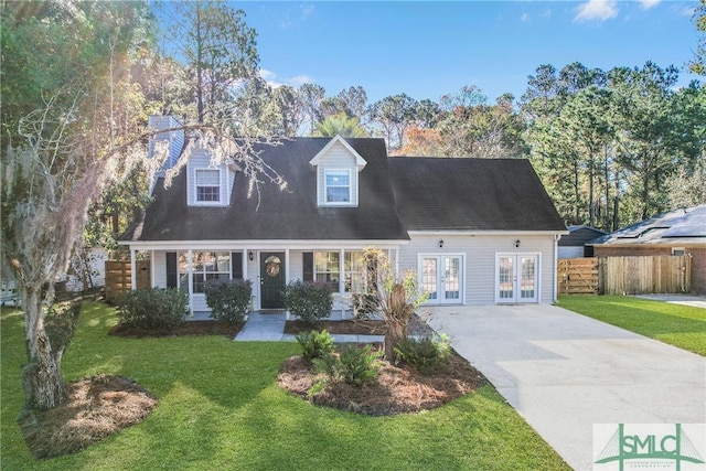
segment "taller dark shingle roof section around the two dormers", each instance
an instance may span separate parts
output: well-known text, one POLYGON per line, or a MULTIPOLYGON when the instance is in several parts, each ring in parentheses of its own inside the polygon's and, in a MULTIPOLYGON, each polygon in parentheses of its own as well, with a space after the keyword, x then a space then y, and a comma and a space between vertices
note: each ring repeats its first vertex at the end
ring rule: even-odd
POLYGON ((317 174, 309 164, 329 138, 300 138, 281 146, 265 146, 261 159, 287 181, 288 191, 264 183, 258 196, 247 197, 248 185, 240 172, 228 207, 186 204, 186 176, 182 171, 164 189, 154 190, 141 231, 128 231, 131 240, 406 240, 407 232, 389 186, 387 153, 382 139, 346 139, 367 164, 361 172, 357 207, 318 207, 317 174))

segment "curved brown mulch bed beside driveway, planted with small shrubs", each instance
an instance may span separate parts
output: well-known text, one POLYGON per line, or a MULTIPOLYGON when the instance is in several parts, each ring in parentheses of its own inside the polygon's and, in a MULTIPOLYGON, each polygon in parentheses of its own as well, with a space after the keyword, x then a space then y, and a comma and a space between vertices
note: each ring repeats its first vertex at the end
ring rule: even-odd
POLYGON ((432 409, 489 384, 488 379, 463 357, 452 353, 449 368, 422 375, 382 362, 376 379, 354 386, 343 382, 328 384, 309 395, 321 376, 302 356, 292 356, 282 364, 279 385, 313 404, 371 416, 389 416, 432 409))

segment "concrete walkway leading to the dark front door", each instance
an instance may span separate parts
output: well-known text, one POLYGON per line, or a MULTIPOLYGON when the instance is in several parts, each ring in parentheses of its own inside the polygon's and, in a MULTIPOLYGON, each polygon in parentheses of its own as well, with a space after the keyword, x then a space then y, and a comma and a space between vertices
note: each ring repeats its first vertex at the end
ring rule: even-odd
MULTIPOLYGON (((345 313, 332 312, 328 320, 342 320, 345 313)), ((285 323, 289 319, 284 312, 261 313, 253 312, 240 332, 235 336, 236 342, 296 342, 292 334, 285 333, 285 323)), ((382 342, 383 335, 351 335, 332 334, 335 343, 372 343, 382 342)))

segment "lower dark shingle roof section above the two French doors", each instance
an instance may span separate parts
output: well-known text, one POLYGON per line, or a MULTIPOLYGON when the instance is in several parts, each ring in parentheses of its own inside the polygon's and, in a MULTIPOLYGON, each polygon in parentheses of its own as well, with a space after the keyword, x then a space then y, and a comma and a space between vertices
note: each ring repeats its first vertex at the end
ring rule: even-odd
POLYGON ((389 158, 410 231, 566 231, 527 160, 389 158))

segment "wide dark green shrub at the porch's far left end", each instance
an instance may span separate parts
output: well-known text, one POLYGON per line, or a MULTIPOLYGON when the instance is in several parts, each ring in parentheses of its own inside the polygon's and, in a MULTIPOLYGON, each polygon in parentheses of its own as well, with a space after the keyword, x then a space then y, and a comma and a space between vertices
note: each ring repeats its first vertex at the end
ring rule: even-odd
POLYGON ((189 309, 185 291, 176 288, 138 289, 118 299, 120 325, 169 331, 184 321, 189 309))

